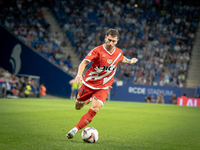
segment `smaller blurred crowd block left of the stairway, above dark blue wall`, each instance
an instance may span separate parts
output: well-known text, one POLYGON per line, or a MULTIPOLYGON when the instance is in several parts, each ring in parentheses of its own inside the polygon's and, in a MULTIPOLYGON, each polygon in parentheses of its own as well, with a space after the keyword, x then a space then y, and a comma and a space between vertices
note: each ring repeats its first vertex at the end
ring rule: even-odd
POLYGON ((39 0, 11 0, 0 3, 0 23, 64 71, 72 68, 70 55, 64 54, 66 46, 58 33, 52 33, 41 11, 39 0))

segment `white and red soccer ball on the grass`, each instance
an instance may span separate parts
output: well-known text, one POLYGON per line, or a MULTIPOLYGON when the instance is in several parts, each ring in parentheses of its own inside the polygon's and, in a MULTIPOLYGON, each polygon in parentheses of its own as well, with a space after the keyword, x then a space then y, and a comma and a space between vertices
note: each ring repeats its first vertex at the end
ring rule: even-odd
POLYGON ((81 138, 85 142, 95 143, 99 138, 99 133, 95 128, 87 127, 82 131, 81 138))

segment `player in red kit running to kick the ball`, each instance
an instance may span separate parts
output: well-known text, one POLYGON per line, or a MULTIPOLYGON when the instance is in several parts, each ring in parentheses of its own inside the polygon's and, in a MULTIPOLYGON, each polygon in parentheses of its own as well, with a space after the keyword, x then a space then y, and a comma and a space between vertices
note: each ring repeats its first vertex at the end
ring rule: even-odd
POLYGON ((109 90, 114 80, 114 75, 119 62, 134 64, 137 58, 127 59, 123 56, 121 49, 115 47, 119 40, 119 32, 115 29, 109 29, 105 36, 105 43, 91 50, 85 59, 80 63, 75 82, 82 81, 78 89, 75 108, 80 110, 87 101, 92 101, 91 107, 86 114, 82 116, 77 125, 67 133, 69 139, 82 128, 87 126, 104 105, 109 90), (87 70, 84 78, 83 71, 87 64, 92 62, 92 67, 87 70))

